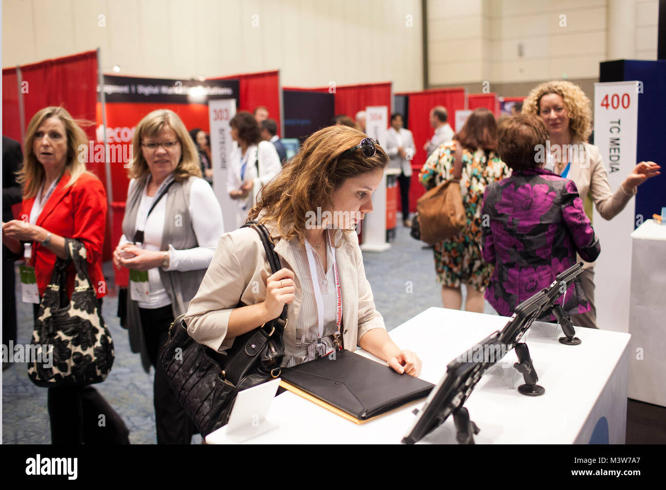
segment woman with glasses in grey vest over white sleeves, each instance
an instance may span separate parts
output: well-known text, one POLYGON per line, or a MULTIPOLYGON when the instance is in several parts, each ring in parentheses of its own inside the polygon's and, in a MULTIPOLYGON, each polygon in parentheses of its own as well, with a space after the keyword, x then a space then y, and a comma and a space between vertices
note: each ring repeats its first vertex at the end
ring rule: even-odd
POLYGON ((224 231, 222 211, 174 112, 159 109, 141 119, 132 144, 141 151, 129 171, 123 236, 113 260, 137 271, 130 279, 139 275, 130 283, 127 323, 133 352, 141 352, 147 372, 155 367, 157 443, 189 444, 196 428, 166 382, 160 355, 169 325, 186 311, 206 273, 224 231))

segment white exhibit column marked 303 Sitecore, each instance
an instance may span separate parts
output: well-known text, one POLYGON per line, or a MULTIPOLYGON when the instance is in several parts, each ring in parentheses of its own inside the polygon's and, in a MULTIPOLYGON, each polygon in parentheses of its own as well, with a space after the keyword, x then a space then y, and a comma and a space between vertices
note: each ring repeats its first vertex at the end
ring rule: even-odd
POLYGON ((237 206, 226 191, 229 157, 236 145, 236 142, 231 139, 229 126, 229 121, 234 115, 236 115, 236 99, 208 101, 212 189, 222 208, 224 233, 236 229, 237 206))

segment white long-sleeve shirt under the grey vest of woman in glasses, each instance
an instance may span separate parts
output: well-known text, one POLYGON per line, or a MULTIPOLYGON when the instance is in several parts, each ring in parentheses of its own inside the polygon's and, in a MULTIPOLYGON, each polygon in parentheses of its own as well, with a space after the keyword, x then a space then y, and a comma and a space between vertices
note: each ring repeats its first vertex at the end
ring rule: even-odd
MULTIPOLYGON (((134 179, 130 182, 133 185, 134 179)), ((148 183, 148 181, 147 181, 148 183)), ((149 209, 157 195, 149 197, 146 188, 143 189, 139 211, 137 212, 137 229, 143 226, 149 209)), ((222 209, 215 194, 203 179, 195 179, 190 187, 190 219, 196 241, 199 246, 193 249, 176 250, 169 244, 168 256, 169 266, 165 271, 195 271, 197 269, 206 269, 210 265, 220 236, 224 233, 224 223, 222 222, 222 209)), ((162 246, 162 235, 165 227, 166 214, 166 196, 160 199, 159 203, 153 209, 153 212, 145 221, 143 249, 159 250, 162 246)), ((125 235, 121 237, 120 245, 123 243, 133 243, 125 235)), ((166 294, 166 290, 160 279, 160 272, 157 267, 149 269, 149 301, 139 301, 140 308, 156 309, 169 305, 171 300, 166 294)))

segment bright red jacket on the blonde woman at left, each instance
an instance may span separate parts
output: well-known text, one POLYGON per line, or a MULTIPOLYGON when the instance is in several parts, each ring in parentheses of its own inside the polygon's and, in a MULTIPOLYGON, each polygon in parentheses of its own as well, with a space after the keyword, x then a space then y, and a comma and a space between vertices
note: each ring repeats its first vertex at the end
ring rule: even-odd
MULTIPOLYGON (((107 283, 102 274, 102 245, 107 224, 107 193, 101 181, 90 173, 82 174, 71 187, 65 189, 69 182, 69 173, 60 179, 57 187, 49 197, 44 209, 37 218, 37 226, 41 226, 54 235, 77 239, 87 251, 88 274, 101 298, 107 293, 107 283)), ((26 199, 21 203, 19 219, 27 221, 33 209, 35 198, 26 199)), ((28 265, 35 267, 39 295, 43 296, 57 256, 33 242, 33 253, 28 265)), ((67 273, 67 293, 71 296, 74 290, 74 265, 67 273)))

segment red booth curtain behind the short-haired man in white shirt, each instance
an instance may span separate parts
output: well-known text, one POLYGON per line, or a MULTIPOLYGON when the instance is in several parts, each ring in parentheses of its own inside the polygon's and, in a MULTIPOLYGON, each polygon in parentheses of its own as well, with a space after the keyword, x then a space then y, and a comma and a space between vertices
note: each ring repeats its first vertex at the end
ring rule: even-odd
POLYGON ((430 127, 430 109, 436 105, 444 105, 449 113, 449 124, 456 131, 456 111, 465 109, 465 89, 436 89, 423 92, 400 93, 409 97, 408 125, 414 135, 416 153, 412 160, 412 185, 410 187, 410 211, 416 211, 416 199, 425 192, 418 181, 418 173, 426 163, 426 151, 423 146, 432 138, 430 127))

